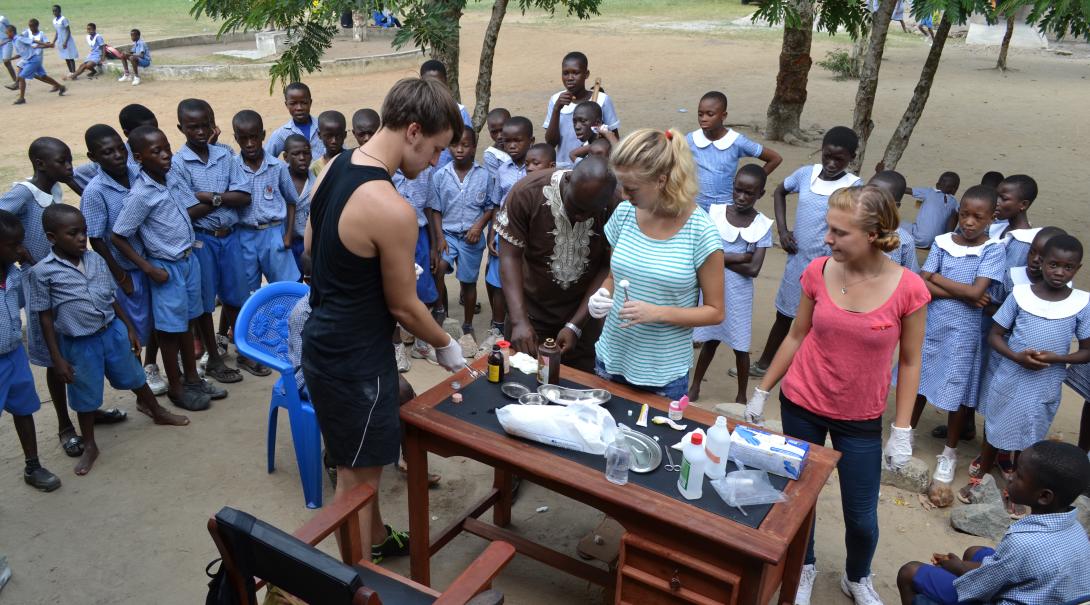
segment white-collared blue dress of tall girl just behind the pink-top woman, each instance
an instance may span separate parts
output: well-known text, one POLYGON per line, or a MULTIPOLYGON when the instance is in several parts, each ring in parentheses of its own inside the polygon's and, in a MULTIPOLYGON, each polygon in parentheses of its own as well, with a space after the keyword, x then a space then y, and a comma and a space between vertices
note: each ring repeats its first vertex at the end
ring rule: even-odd
POLYGON ((836 190, 861 184, 859 177, 847 172, 837 181, 819 179, 821 165, 803 166, 784 181, 787 193, 798 193, 799 204, 795 210, 795 241, 799 250, 787 255, 784 278, 776 292, 776 311, 795 317, 802 298, 802 271, 819 256, 828 256, 825 245, 825 214, 828 211, 828 196, 836 190))

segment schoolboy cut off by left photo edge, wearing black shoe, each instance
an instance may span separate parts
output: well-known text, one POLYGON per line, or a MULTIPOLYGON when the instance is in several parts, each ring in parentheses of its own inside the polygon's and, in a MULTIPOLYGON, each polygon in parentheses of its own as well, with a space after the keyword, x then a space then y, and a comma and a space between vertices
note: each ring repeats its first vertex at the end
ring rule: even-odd
POLYGON ((61 486, 61 480, 38 461, 38 437, 34 413, 41 400, 34 390, 34 375, 23 349, 23 329, 19 311, 24 305, 23 271, 16 262, 26 262, 23 225, 15 215, 0 210, 0 413, 8 412, 15 423, 23 447, 23 481, 43 492, 61 486))

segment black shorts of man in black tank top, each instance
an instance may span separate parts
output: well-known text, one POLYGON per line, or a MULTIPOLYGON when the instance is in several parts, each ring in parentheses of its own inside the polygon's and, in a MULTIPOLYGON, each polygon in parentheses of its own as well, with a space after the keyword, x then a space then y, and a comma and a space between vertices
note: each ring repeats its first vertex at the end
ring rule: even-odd
POLYGON ((320 363, 303 361, 303 377, 329 459, 338 467, 385 467, 401 452, 398 368, 370 378, 335 378, 320 363))

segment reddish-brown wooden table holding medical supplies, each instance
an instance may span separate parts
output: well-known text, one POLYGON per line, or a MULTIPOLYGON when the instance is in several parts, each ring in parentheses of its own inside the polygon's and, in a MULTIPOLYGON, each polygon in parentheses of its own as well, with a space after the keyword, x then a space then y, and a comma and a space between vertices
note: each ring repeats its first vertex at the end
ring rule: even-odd
MULTIPOLYGON (((473 365, 483 370, 485 363, 481 359, 473 365)), ((662 411, 668 404, 661 397, 570 367, 564 367, 561 376, 662 411)), ((436 410, 453 392, 453 380, 464 385, 472 378, 463 370, 401 408, 413 580, 431 584, 432 555, 465 531, 485 540, 504 540, 521 555, 602 585, 611 594, 607 602, 617 604, 768 603, 777 589, 779 603, 794 603, 818 494, 836 465, 836 451, 811 445, 802 477, 785 489, 787 501, 775 505, 761 525, 751 529, 639 485, 614 485, 600 471, 436 410), (492 489, 434 539, 427 452, 462 456, 495 469, 492 489), (512 475, 601 510, 623 525, 617 568, 605 571, 504 529, 511 522, 512 475), (480 520, 489 508, 493 522, 480 520)), ((686 416, 707 425, 715 422, 715 414, 695 406, 686 416)))

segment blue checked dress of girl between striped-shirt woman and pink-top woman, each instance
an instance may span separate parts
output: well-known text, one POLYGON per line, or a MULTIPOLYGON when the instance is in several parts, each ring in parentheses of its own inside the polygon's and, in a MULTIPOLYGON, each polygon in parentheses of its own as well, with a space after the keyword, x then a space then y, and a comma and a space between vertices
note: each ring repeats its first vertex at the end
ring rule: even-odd
MULTIPOLYGON (((772 247, 771 218, 758 213, 749 227, 739 228, 727 220, 726 209, 726 204, 716 204, 708 213, 723 238, 723 252, 744 254, 756 252, 759 247, 772 247)), ((718 340, 735 351, 749 352, 753 328, 753 278, 723 269, 723 301, 726 317, 717 325, 693 329, 693 341, 718 340)))

